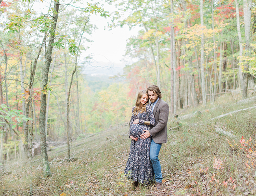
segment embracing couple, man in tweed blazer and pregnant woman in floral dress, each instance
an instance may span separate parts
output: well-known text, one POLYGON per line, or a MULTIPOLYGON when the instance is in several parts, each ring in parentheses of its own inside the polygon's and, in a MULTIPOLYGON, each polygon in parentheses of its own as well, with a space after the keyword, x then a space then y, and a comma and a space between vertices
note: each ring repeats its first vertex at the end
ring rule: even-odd
POLYGON ((161 100, 158 86, 150 85, 140 91, 132 108, 130 154, 124 174, 133 180, 133 187, 156 183, 162 188, 162 172, 158 154, 162 143, 167 142, 168 104, 161 100), (150 100, 150 103, 149 103, 150 100))

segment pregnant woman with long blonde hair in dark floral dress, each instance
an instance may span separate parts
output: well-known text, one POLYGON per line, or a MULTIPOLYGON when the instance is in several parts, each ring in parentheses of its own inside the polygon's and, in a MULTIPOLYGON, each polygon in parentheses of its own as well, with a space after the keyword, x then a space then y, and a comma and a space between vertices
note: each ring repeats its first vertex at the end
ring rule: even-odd
POLYGON ((149 130, 149 126, 154 126, 155 118, 151 106, 148 105, 148 92, 140 91, 135 106, 132 108, 132 118, 130 122, 130 138, 132 139, 130 154, 124 174, 133 180, 133 187, 139 184, 148 184, 153 180, 153 169, 149 159, 151 136, 145 140, 140 138, 143 130, 149 130))

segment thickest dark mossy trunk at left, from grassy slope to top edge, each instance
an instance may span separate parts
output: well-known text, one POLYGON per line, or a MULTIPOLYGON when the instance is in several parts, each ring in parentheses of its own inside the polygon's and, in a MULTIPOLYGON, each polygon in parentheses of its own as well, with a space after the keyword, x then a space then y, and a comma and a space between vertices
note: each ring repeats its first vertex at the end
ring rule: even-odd
POLYGON ((56 25, 59 13, 59 0, 54 1, 54 13, 53 13, 53 23, 50 29, 50 40, 46 50, 46 61, 43 67, 43 78, 42 78, 42 93, 41 93, 41 107, 39 114, 39 131, 40 131, 40 146, 41 146, 41 157, 43 165, 44 176, 50 176, 50 165, 48 161, 48 154, 46 149, 46 135, 45 135, 45 113, 46 113, 46 92, 48 84, 48 74, 49 68, 52 61, 52 48, 55 38, 56 25))

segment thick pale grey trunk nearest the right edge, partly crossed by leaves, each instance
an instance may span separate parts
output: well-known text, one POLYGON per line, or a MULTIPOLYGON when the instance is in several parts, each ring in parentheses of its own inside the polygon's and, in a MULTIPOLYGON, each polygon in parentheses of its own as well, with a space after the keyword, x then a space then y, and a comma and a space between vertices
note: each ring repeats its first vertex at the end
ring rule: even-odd
MULTIPOLYGON (((251 20, 252 0, 243 0, 243 16, 245 20, 245 56, 250 55, 250 20, 251 20)), ((248 71, 249 65, 245 63, 245 71, 248 71)), ((243 98, 247 97, 248 73, 243 73, 243 98)))

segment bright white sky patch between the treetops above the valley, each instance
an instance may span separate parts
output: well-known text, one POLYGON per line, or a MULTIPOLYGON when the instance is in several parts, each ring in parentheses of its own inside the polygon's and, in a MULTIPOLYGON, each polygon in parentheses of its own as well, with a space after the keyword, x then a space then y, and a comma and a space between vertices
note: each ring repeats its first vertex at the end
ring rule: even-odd
MULTIPOLYGON (((104 5, 104 10, 109 11, 109 13, 115 11, 114 5, 104 5)), ((134 28, 131 31, 128 26, 115 27, 112 30, 108 28, 108 22, 111 23, 111 17, 102 18, 100 15, 91 15, 90 21, 91 24, 95 24, 98 29, 93 31, 91 35, 91 40, 93 42, 89 43, 89 49, 84 53, 85 56, 90 54, 93 56, 93 60, 96 62, 94 65, 99 66, 113 66, 115 67, 124 67, 126 61, 124 60, 124 54, 126 49, 126 40, 132 35, 137 34, 138 28, 134 28)))

